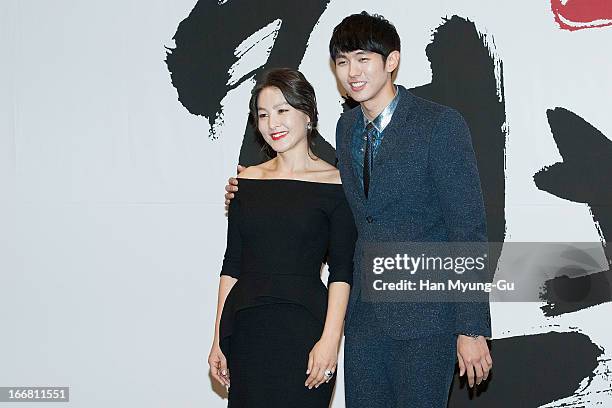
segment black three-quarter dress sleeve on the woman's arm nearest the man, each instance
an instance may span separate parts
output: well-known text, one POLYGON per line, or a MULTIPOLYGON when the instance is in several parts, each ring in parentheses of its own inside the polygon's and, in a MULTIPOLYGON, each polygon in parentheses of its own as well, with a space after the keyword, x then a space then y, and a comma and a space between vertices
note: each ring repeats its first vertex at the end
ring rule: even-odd
POLYGON ((353 253, 355 252, 357 229, 344 193, 330 214, 329 231, 328 284, 346 282, 350 285, 353 283, 353 253))

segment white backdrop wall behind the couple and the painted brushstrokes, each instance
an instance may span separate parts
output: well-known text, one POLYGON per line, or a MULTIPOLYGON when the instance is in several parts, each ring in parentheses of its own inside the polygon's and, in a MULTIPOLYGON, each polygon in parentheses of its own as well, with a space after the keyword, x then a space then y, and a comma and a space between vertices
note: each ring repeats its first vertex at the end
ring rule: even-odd
MULTIPOLYGON (((178 102, 164 63, 164 46, 194 5, 0 5, 0 386, 70 386, 74 407, 225 406, 206 359, 225 246, 223 186, 252 82, 226 95, 225 123, 209 139, 207 119, 178 102)), ((612 135, 612 28, 561 31, 546 1, 379 1, 375 9, 332 1, 300 66, 332 144, 341 98, 327 43, 342 17, 363 9, 397 26, 397 82, 407 87, 430 81, 424 49, 443 16, 492 35, 509 127, 507 240, 599 241, 587 206, 538 190, 533 174, 561 161, 546 109, 566 107, 612 135)), ((239 64, 262 64, 266 52, 239 64)), ((556 318, 539 306, 493 304, 494 337, 587 334, 606 350, 593 382, 549 406, 612 405, 612 303, 556 318)), ((339 374, 336 408, 344 406, 339 374)), ((29 405, 38 406, 15 406, 29 405)))

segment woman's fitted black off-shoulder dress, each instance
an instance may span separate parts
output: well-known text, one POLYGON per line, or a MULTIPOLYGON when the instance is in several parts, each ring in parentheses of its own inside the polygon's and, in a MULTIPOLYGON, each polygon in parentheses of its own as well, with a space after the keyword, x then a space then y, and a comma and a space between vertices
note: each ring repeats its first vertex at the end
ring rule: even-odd
POLYGON ((229 407, 329 406, 334 381, 304 386, 327 312, 321 265, 329 283, 351 284, 356 237, 340 184, 239 180, 221 271, 238 279, 220 323, 229 407))

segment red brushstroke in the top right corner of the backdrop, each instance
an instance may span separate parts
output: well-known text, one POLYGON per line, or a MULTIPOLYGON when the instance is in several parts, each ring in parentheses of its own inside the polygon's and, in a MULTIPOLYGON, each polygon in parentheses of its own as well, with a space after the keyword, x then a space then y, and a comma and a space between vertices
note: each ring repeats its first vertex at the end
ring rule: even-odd
POLYGON ((612 0, 551 0, 555 20, 563 30, 599 28, 612 25, 612 0))

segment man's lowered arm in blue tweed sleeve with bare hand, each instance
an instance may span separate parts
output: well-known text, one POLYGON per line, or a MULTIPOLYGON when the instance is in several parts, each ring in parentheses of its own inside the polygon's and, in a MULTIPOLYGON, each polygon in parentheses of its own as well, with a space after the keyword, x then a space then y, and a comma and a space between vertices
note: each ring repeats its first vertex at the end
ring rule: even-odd
MULTIPOLYGON (((476 155, 469 128, 459 112, 448 109, 440 114, 430 149, 448 241, 486 243, 486 212, 476 155)), ((479 279, 489 282, 491 274, 485 273, 479 279)), ((493 365, 485 339, 491 336, 491 314, 486 296, 480 302, 456 304, 455 333, 458 335, 459 375, 467 374, 468 384, 473 387, 487 379, 493 365)))

